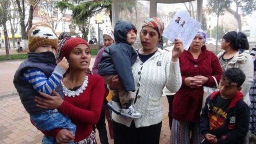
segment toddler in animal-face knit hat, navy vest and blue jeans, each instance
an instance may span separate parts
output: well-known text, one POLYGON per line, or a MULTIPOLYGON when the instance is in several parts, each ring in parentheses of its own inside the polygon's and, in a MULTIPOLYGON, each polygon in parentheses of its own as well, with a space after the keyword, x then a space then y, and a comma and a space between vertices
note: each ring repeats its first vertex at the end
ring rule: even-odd
MULTIPOLYGON (((56 109, 42 109, 36 106, 35 97, 40 93, 48 95, 59 93, 63 99, 60 83, 62 76, 69 67, 64 57, 58 65, 55 54, 58 48, 58 37, 54 30, 46 25, 33 26, 28 33, 28 59, 23 61, 14 75, 20 100, 30 114, 32 124, 42 132, 56 128, 70 130, 75 134, 76 126, 71 120, 56 109)), ((57 134, 56 134, 57 135, 57 134)), ((42 144, 54 144, 56 139, 44 136, 42 144)), ((74 142, 70 142, 72 144, 74 142)))

